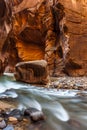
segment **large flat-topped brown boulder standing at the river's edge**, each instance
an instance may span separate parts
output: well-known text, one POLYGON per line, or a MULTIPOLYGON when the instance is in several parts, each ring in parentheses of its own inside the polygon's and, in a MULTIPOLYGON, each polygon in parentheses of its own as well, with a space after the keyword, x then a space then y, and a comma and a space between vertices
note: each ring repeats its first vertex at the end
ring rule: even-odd
POLYGON ((20 62, 15 66, 14 75, 16 80, 27 83, 47 84, 49 82, 45 60, 20 62))

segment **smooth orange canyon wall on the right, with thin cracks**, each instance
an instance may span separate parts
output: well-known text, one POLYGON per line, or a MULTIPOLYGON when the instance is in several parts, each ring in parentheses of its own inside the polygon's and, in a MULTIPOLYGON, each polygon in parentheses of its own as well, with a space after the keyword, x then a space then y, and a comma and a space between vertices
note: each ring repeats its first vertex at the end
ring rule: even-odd
POLYGON ((87 1, 59 0, 64 5, 69 33, 70 56, 66 73, 70 76, 87 75, 87 1))

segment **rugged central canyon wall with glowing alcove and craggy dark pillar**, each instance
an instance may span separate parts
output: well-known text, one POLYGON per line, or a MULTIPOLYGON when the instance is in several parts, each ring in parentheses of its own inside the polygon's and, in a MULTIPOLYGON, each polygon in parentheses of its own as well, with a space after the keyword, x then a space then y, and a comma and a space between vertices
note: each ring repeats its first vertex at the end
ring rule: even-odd
POLYGON ((64 7, 58 2, 42 0, 37 1, 36 6, 32 3, 32 10, 30 2, 14 0, 12 31, 2 52, 6 52, 10 66, 21 61, 44 59, 48 63, 49 75, 60 76, 69 50, 64 7))

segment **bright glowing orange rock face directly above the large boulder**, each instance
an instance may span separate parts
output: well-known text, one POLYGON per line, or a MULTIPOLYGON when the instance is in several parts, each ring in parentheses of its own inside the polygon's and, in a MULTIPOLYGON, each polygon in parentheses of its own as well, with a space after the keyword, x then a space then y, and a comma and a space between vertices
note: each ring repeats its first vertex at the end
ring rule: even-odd
POLYGON ((17 42, 18 56, 23 61, 33 61, 44 59, 44 49, 40 46, 30 43, 17 42))

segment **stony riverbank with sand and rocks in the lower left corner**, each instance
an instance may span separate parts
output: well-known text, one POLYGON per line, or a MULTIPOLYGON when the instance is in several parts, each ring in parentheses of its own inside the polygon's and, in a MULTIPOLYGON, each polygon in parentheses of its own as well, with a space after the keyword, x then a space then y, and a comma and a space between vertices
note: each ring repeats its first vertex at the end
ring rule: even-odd
POLYGON ((16 105, 10 99, 0 100, 0 130, 40 130, 45 123, 43 112, 35 108, 24 112, 16 105))

